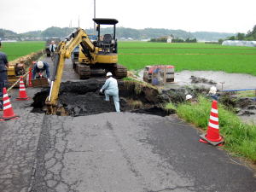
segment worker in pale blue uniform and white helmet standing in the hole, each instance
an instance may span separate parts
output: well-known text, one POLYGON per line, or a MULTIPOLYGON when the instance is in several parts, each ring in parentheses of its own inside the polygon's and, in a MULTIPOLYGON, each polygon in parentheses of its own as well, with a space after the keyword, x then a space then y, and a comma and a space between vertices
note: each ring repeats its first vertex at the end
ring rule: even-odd
POLYGON ((119 109, 119 87, 116 79, 113 79, 113 75, 111 72, 107 73, 107 80, 105 84, 103 84, 100 92, 104 91, 105 101, 109 101, 109 96, 113 96, 113 103, 116 112, 120 112, 119 109))

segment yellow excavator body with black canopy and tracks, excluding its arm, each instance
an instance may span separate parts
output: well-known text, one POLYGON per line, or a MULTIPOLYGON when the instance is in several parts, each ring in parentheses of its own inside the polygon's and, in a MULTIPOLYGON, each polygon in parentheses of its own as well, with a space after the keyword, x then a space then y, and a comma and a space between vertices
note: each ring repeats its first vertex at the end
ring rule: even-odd
MULTIPOLYGON (((79 61, 74 63, 74 70, 79 73, 80 79, 88 79, 90 76, 105 75, 107 72, 113 73, 117 79, 127 76, 127 68, 118 64, 118 49, 116 39, 116 19, 94 18, 96 23, 96 40, 91 44, 93 50, 87 44, 80 43, 79 61), (102 26, 113 26, 113 31, 102 34, 102 26), (92 60, 93 58, 93 60, 92 60)), ((89 37, 90 38, 90 37, 89 37)))

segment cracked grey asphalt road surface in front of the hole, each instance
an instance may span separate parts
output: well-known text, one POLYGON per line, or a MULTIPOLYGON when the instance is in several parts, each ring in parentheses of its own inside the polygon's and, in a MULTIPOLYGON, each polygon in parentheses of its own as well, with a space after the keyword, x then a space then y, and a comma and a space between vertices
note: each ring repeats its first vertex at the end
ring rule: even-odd
POLYGON ((20 119, 0 122, 1 192, 256 191, 252 169, 176 116, 44 115, 9 94, 20 119))

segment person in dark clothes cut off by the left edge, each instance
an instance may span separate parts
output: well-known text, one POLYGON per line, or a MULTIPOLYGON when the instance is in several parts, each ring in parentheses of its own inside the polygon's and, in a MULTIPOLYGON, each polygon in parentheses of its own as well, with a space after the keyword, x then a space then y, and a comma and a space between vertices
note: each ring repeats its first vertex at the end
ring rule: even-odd
MULTIPOLYGON (((1 48, 1 41, 0 41, 1 48)), ((9 63, 7 60, 7 56, 0 52, 0 111, 3 111, 3 87, 7 86, 7 69, 9 67, 9 63)))

